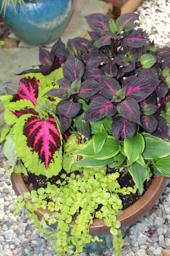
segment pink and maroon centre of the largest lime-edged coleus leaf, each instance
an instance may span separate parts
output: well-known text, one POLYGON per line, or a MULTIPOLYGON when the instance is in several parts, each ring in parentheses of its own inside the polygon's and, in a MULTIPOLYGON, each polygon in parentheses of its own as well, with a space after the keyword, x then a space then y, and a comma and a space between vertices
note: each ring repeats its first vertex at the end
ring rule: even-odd
POLYGON ((48 120, 36 116, 28 117, 23 127, 23 135, 27 137, 27 146, 33 152, 38 152, 39 159, 45 163, 48 171, 54 153, 61 147, 61 135, 54 117, 49 117, 48 120))

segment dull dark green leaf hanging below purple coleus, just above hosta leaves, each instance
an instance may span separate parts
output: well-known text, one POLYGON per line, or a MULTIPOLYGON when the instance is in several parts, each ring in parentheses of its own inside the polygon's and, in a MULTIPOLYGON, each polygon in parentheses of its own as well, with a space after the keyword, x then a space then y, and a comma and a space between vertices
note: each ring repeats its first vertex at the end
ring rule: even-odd
POLYGON ((76 117, 76 119, 75 119, 75 127, 78 130, 78 132, 80 132, 85 137, 90 139, 90 126, 89 126, 89 122, 83 120, 84 116, 85 116, 85 114, 83 113, 80 116, 76 117))

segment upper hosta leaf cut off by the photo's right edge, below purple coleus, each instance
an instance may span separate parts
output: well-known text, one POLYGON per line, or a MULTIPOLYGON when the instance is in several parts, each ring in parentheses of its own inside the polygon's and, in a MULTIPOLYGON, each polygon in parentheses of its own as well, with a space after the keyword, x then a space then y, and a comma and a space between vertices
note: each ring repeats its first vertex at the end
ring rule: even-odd
POLYGON ((168 142, 145 132, 142 135, 145 139, 145 149, 142 153, 144 159, 167 157, 170 154, 170 144, 168 142))

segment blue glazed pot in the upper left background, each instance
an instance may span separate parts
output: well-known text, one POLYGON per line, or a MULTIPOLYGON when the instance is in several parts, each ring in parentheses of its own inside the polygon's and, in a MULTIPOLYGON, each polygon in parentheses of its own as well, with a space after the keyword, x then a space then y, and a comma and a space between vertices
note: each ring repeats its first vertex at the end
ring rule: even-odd
MULTIPOLYGON (((3 17, 14 34, 29 45, 46 45, 56 41, 72 14, 74 0, 26 0, 23 13, 17 3, 17 14, 11 1, 3 17)), ((0 9, 2 0, 0 0, 0 9)), ((1 16, 3 16, 3 11, 1 16)))

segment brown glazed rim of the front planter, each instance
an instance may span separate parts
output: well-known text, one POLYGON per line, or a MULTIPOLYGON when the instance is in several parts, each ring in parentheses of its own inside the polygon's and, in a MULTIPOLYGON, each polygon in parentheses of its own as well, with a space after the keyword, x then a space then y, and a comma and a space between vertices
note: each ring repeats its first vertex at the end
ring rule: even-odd
MULTIPOLYGON (((11 181, 17 195, 21 194, 23 196, 25 192, 29 192, 27 186, 23 181, 21 173, 12 173, 11 181)), ((159 198, 159 195, 162 193, 165 183, 166 177, 155 176, 145 194, 143 194, 143 196, 138 199, 137 202, 132 204, 132 206, 129 206, 129 208, 121 211, 117 215, 117 220, 121 222, 121 228, 134 223, 135 221, 137 221, 137 219, 147 213, 149 209, 151 209, 155 201, 159 198)), ((32 200, 28 201, 30 201, 30 203, 33 203, 32 200)), ((39 217, 42 217, 45 213, 51 214, 51 211, 49 211, 48 209, 44 210, 39 208, 37 211, 35 211, 35 213, 39 217)), ((73 222, 69 224, 70 229, 72 228, 73 224, 73 222)), ((95 219, 93 221, 93 224, 91 224, 90 226, 90 231, 93 232, 97 229, 101 229, 102 231, 108 231, 110 227, 107 227, 104 224, 104 219, 95 219)))

